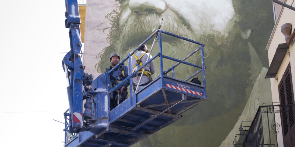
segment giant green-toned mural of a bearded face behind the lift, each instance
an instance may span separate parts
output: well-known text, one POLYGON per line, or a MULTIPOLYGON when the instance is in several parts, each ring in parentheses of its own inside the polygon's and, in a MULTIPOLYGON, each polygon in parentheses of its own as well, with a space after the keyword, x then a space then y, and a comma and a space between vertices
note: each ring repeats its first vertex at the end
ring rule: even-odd
MULTIPOLYGON (((162 30, 205 44, 207 100, 172 124, 182 129, 162 129, 144 139, 140 146, 155 145, 155 142, 155 146, 193 146, 192 142, 198 142, 196 146, 219 146, 241 114, 251 94, 253 80, 263 66, 268 67, 264 48, 273 27, 271 2, 121 0, 118 3, 119 9, 107 15, 112 22, 107 38, 110 45, 97 55, 100 57, 96 65, 98 71, 109 67, 112 52, 118 52, 121 58, 128 55, 158 28, 162 18, 162 30), (231 115, 227 115, 229 113, 231 115), (198 135, 204 128, 205 131, 198 135), (179 137, 187 132, 193 133, 179 137), (214 141, 208 137, 212 134, 214 141)), ((198 47, 167 35, 162 37, 163 54, 174 58, 182 59, 198 47)), ((152 40, 146 43, 149 49, 152 40)), ((157 47, 158 42, 152 55, 158 52, 157 47)), ((200 55, 186 61, 200 65, 200 55)), ((156 78, 159 62, 154 63, 153 78, 156 78)), ((164 70, 173 64, 175 62, 164 63, 164 70)), ((185 79, 196 71, 189 66, 179 66, 175 69, 175 77, 185 79)))

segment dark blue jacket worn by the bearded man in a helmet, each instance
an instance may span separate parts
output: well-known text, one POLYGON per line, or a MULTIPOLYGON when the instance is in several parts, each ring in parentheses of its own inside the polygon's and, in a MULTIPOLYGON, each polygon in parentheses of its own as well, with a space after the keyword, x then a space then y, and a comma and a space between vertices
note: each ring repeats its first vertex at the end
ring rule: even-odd
MULTIPOLYGON (((112 68, 113 68, 112 66, 110 66, 109 68, 106 68, 106 71, 104 73, 109 72, 112 68)), ((128 76, 127 66, 122 64, 119 65, 115 70, 113 70, 113 72, 111 73, 111 76, 113 76, 117 81, 123 81, 128 76), (123 76, 122 70, 124 71, 125 76, 123 76)), ((112 80, 113 79, 112 77, 110 79, 111 79, 111 83, 113 83, 112 86, 115 86, 118 84, 117 81, 112 80)), ((128 85, 129 85, 129 79, 126 80, 123 86, 127 88, 128 85)))

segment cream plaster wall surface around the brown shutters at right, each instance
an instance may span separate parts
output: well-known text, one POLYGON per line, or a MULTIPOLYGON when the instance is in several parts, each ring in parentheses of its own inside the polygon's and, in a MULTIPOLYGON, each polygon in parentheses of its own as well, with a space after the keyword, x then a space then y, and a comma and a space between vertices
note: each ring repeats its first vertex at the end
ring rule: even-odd
MULTIPOLYGON (((293 2, 293 0, 287 0, 286 4, 287 5, 291 5, 293 2)), ((276 48, 278 47, 278 45, 280 43, 286 43, 285 41, 285 36, 283 35, 283 33, 281 32, 281 26, 285 23, 291 23, 292 28, 291 28, 291 33, 293 33, 294 28, 295 28, 295 11, 290 10, 288 8, 283 8, 282 14, 279 18, 279 20, 276 22, 277 27, 276 30, 273 32, 273 38, 270 42, 269 45, 269 49, 268 49, 268 57, 269 57, 269 65, 272 62, 272 58, 276 52, 276 48)), ((290 52, 290 56, 288 54, 285 55, 283 62, 278 70, 278 74, 276 75, 276 79, 275 78, 270 78, 270 83, 271 83, 271 91, 272 91, 272 102, 279 102, 279 83, 283 77, 283 74, 288 66, 288 64, 290 63, 291 66, 291 74, 292 74, 292 82, 293 82, 293 87, 295 87, 294 82, 295 82, 295 52, 294 52, 294 48, 295 48, 295 44, 293 42, 293 44, 291 44, 289 46, 289 50, 287 51, 290 52)), ((276 119, 280 119, 279 114, 276 114, 276 119)), ((280 126, 282 126, 280 124, 280 126)), ((281 128, 280 132, 282 131, 281 128)), ((282 134, 278 134, 278 143, 279 143, 279 147, 283 146, 283 136, 282 134)))

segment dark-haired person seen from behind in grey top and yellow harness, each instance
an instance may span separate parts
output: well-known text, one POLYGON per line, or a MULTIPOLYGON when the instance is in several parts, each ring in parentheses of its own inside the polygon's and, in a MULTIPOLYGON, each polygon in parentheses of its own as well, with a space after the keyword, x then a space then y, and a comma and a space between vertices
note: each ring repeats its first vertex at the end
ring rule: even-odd
MULTIPOLYGON (((137 49, 137 53, 135 53, 131 56, 131 64, 132 64, 131 65, 131 69, 132 69, 131 72, 136 71, 142 65, 144 65, 147 61, 148 55, 149 55, 148 54, 148 47, 145 44, 141 45, 141 47, 139 47, 137 49)), ((152 58, 152 56, 150 56, 149 59, 151 59, 151 58, 152 58)), ((129 60, 128 60, 127 67, 129 67, 129 60)), ((148 83, 150 83, 152 81, 152 74, 154 74, 154 72, 155 72, 154 61, 151 61, 150 63, 148 63, 144 68, 145 68, 144 75, 142 76, 142 79, 139 83, 140 85, 139 85, 137 91, 142 89, 145 85, 148 85, 148 83)), ((133 83, 132 86, 133 86, 134 91, 138 85, 142 71, 143 71, 143 69, 141 69, 136 75, 134 75, 132 77, 132 83, 133 83)), ((129 68, 128 68, 128 73, 130 73, 129 68)))

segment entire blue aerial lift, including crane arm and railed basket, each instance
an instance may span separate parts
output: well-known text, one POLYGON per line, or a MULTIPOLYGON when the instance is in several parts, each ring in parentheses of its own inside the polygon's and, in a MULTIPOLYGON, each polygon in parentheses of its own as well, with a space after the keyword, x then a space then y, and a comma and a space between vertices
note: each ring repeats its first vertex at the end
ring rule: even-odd
MULTIPOLYGON (((71 42, 71 51, 67 53, 62 62, 69 84, 67 90, 70 105, 64 113, 66 147, 130 146, 180 119, 182 117, 180 114, 206 100, 204 44, 160 29, 137 47, 139 48, 154 36, 159 38, 159 52, 141 68, 129 73, 129 76, 115 87, 110 86, 111 72, 118 65, 127 61, 137 51, 135 48, 109 72, 93 80, 92 75, 83 72, 84 66, 79 57, 81 41, 77 0, 65 0, 65 2, 66 27, 69 28, 71 42), (195 43, 200 47, 182 60, 165 56, 162 52, 162 34, 195 43), (199 50, 201 50, 201 66, 184 61, 199 50), (120 89, 124 82, 128 81, 132 85, 132 76, 158 57, 160 67, 155 68, 160 68, 160 75, 136 93, 132 92, 132 86, 130 86, 130 97, 110 110, 109 101, 113 92, 120 89), (178 63, 163 71, 163 58, 178 63), (199 70, 186 80, 176 79, 174 68, 179 64, 190 65, 199 70), (167 75, 170 71, 172 71, 172 77, 167 75), (202 72, 203 85, 188 82, 200 72, 202 72), (89 89, 88 85, 92 85, 92 89, 89 89), (82 111, 83 99, 86 99, 84 112, 82 111), (78 135, 69 138, 69 132, 78 135)), ((131 60, 129 62, 128 68, 132 71, 131 60)))

